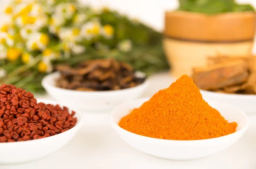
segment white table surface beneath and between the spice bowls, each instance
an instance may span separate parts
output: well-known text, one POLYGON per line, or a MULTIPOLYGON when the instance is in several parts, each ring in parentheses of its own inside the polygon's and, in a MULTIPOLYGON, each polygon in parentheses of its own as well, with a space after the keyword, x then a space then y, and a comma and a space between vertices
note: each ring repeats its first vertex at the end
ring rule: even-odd
MULTIPOLYGON (((150 97, 172 81, 169 73, 151 77, 142 97, 150 97)), ((37 98, 49 98, 37 96, 37 98)), ((29 163, 0 165, 0 169, 255 169, 256 115, 232 147, 199 160, 175 161, 144 154, 126 144, 108 123, 109 112, 84 112, 85 123, 66 146, 29 163)), ((0 152, 1 153, 1 152, 0 152)))

